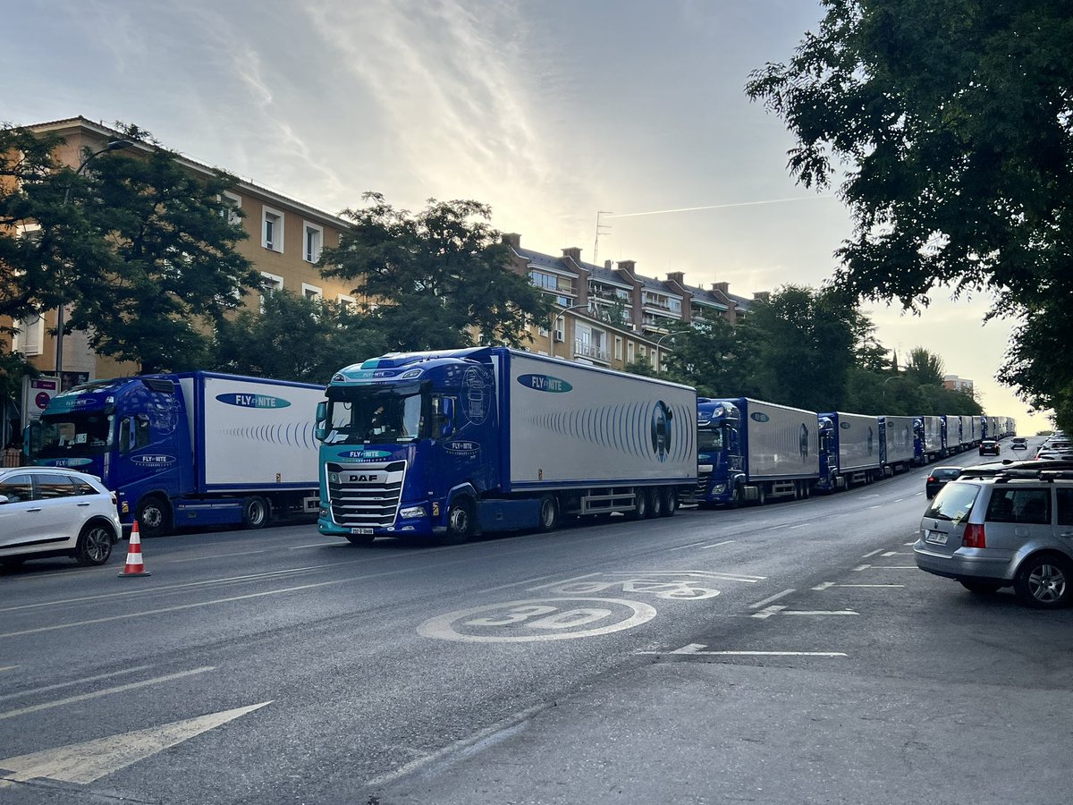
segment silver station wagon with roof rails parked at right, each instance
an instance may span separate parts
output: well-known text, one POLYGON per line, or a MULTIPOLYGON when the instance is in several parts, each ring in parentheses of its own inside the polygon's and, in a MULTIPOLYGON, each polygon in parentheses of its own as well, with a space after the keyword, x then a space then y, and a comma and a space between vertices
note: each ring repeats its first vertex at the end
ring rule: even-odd
MULTIPOLYGON (((1039 466, 1039 465, 1037 465, 1039 466)), ((947 483, 924 512, 916 567, 1030 606, 1073 596, 1073 471, 1003 470, 947 483)))

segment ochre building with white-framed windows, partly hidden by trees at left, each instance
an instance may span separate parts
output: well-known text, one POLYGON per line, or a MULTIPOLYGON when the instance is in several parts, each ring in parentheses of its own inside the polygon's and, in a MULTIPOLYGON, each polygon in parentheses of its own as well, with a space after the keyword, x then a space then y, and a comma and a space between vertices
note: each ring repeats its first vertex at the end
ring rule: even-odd
MULTIPOLYGON (((64 142, 57 149, 56 157, 72 167, 82 164, 85 149, 99 151, 108 143, 123 137, 122 132, 84 117, 27 128, 42 134, 62 136, 64 142)), ((123 152, 136 155, 148 152, 151 148, 150 144, 133 142, 123 148, 123 152)), ((208 175, 211 171, 208 165, 188 157, 180 157, 179 162, 193 173, 208 175)), ((285 288, 307 297, 354 303, 350 284, 322 278, 315 267, 323 248, 338 246, 339 234, 348 226, 346 221, 246 179, 240 179, 226 197, 236 210, 244 214, 242 226, 249 237, 240 240, 235 249, 261 273, 262 293, 270 294, 285 288)), ((260 305, 260 296, 248 295, 246 304, 260 305)), ((33 320, 17 322, 21 332, 15 337, 13 351, 23 352, 46 375, 56 374, 59 361, 64 389, 95 378, 121 377, 137 371, 133 364, 93 353, 84 333, 65 336, 62 349, 58 350, 57 339, 48 333, 56 327, 58 312, 49 310, 33 320)))

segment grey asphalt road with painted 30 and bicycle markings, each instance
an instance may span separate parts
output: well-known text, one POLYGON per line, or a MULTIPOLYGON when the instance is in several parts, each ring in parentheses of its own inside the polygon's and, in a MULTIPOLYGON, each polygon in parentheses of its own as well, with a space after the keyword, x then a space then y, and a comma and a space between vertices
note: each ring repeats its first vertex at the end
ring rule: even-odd
POLYGON ((1073 616, 916 570, 925 474, 454 547, 300 525, 143 541, 145 577, 123 545, 27 562, 0 803, 1064 801, 1073 616))

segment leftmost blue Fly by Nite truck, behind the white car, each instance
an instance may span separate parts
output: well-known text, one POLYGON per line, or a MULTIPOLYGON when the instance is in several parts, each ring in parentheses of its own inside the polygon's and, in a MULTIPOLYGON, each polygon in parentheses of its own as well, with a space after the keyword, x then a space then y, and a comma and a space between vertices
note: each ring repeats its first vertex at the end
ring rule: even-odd
POLYGON ((317 512, 323 399, 320 385, 207 371, 94 380, 53 397, 26 449, 32 464, 99 477, 144 537, 261 528, 317 512))

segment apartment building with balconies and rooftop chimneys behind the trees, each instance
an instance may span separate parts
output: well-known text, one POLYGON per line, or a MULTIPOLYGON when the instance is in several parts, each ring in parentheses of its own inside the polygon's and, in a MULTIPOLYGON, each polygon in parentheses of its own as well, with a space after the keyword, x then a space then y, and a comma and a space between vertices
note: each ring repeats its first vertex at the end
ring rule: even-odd
POLYGON ((576 247, 553 257, 524 248, 517 233, 503 239, 514 270, 528 274, 556 305, 546 324, 529 331, 529 348, 542 355, 613 369, 643 360, 658 369, 672 351, 663 339, 679 322, 736 324, 749 310, 750 301, 731 294, 726 282, 697 288, 686 283, 684 272, 660 280, 640 274, 633 260, 598 266, 584 262, 576 247))

